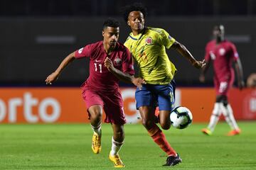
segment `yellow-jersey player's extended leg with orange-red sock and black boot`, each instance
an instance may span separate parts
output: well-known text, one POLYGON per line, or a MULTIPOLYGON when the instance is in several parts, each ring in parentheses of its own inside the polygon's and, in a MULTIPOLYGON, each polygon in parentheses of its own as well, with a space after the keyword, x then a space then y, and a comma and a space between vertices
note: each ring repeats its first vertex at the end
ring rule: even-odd
MULTIPOLYGON (((151 85, 143 85, 142 89, 137 89, 135 93, 135 98, 137 101, 137 108, 139 108, 139 113, 142 116, 142 125, 146 128, 149 133, 149 136, 154 140, 156 145, 166 152, 171 159, 176 157, 179 159, 175 150, 169 145, 169 142, 166 140, 164 133, 160 130, 160 128, 155 123, 155 106, 154 106, 154 95, 151 93, 150 87, 151 85)), ((173 162, 172 164, 166 164, 168 166, 174 166, 178 164, 178 162, 173 162)))

